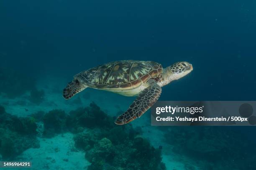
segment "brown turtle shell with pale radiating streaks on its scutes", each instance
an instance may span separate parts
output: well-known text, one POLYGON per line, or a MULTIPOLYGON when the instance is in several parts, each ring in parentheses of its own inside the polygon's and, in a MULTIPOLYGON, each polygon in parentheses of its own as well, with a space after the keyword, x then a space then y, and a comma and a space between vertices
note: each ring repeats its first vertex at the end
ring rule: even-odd
POLYGON ((89 87, 129 89, 141 85, 150 78, 161 78, 162 70, 162 65, 154 61, 123 60, 93 67, 76 76, 89 87))

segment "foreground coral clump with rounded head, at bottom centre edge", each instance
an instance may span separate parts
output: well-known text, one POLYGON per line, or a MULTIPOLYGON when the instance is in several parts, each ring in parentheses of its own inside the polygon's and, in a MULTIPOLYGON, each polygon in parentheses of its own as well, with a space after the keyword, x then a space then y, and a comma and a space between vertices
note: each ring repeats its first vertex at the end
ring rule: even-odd
POLYGON ((88 170, 165 170, 161 150, 155 149, 142 137, 115 145, 102 138, 87 151, 85 158, 92 163, 88 170))

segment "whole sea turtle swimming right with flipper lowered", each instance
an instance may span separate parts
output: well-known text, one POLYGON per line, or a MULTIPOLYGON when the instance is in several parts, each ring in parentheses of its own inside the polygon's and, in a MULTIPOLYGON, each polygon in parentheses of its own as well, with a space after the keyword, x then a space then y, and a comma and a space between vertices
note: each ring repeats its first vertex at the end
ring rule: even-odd
POLYGON ((128 110, 115 120, 123 125, 141 117, 161 95, 161 87, 189 74, 193 70, 189 62, 176 62, 163 68, 154 61, 122 60, 109 62, 74 76, 63 90, 69 99, 87 87, 115 92, 125 96, 138 96, 128 110))

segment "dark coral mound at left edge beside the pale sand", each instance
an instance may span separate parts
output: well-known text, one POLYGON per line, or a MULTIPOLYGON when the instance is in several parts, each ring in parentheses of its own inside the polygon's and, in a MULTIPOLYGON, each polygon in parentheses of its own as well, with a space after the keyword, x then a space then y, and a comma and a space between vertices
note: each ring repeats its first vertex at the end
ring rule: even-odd
POLYGON ((28 148, 39 148, 35 122, 29 117, 16 117, 3 112, 0 106, 0 154, 4 160, 12 160, 28 148))

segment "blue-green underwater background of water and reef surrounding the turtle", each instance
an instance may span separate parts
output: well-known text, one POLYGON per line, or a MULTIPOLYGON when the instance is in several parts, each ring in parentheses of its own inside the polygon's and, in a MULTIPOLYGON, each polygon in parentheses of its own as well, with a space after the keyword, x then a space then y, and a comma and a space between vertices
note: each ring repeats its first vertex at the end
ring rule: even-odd
MULTIPOLYGON (((115 60, 193 64, 159 100, 256 100, 255 0, 0 1, 0 160, 38 170, 255 170, 255 127, 118 126, 135 97, 62 90, 115 60)), ((256 113, 254 112, 254 115, 256 113)))

